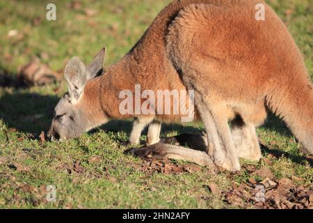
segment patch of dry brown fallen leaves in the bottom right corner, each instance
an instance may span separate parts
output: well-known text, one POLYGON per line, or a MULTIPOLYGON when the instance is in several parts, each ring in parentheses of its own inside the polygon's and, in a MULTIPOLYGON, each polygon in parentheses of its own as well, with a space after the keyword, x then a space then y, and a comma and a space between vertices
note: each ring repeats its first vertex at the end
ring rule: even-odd
POLYGON ((289 178, 272 180, 266 178, 255 183, 233 183, 232 188, 221 194, 224 201, 237 208, 264 209, 310 209, 313 208, 313 190, 303 186, 296 186, 289 178), (252 187, 250 187, 252 185, 252 187))

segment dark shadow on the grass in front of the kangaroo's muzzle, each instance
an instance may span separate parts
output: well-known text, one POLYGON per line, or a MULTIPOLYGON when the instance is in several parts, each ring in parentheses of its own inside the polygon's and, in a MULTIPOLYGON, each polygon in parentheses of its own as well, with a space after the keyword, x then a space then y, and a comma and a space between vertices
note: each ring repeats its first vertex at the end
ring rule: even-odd
POLYGON ((19 132, 47 132, 58 100, 56 96, 13 90, 13 93, 0 96, 0 119, 8 128, 15 128, 19 132))

